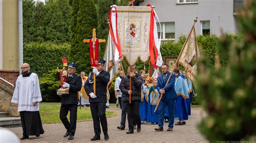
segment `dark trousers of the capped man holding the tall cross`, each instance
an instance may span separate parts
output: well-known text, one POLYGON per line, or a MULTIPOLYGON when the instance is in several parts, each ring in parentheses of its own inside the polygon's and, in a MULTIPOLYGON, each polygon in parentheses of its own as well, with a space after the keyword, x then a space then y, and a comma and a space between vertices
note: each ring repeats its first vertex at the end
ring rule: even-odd
POLYGON ((100 137, 100 125, 104 135, 107 134, 107 120, 106 120, 106 103, 105 102, 93 102, 90 103, 91 114, 93 119, 93 128, 96 137, 100 137))

